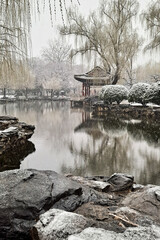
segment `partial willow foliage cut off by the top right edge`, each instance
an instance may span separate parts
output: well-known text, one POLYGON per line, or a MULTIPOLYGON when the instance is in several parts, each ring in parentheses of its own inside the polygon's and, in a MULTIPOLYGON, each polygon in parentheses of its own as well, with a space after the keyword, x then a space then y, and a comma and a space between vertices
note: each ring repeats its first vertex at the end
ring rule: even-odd
POLYGON ((143 23, 147 26, 151 41, 145 50, 160 48, 160 0, 153 1, 142 14, 143 23))

